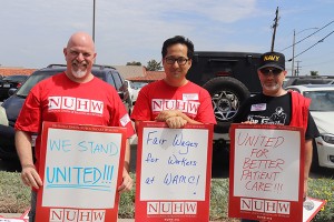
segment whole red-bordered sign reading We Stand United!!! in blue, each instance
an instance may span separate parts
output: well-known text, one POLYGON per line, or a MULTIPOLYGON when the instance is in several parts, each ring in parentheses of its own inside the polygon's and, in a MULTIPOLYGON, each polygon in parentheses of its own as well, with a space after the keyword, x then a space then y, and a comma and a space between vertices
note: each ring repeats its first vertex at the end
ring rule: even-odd
POLYGON ((45 122, 37 221, 117 221, 126 129, 45 122))

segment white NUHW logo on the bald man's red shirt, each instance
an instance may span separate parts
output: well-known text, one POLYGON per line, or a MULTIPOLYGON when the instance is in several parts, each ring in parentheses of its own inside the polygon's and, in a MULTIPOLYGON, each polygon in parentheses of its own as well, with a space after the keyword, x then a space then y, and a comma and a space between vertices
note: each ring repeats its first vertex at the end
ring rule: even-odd
POLYGON ((49 111, 68 110, 86 113, 104 113, 104 102, 73 97, 49 97, 49 111))

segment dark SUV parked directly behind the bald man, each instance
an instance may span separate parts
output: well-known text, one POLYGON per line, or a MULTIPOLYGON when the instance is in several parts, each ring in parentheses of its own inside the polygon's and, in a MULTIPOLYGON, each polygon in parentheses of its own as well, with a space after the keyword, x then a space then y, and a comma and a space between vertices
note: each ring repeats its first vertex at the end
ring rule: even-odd
MULTIPOLYGON (((1 104, 0 109, 0 115, 2 114, 2 117, 0 117, 0 159, 18 160, 14 147, 13 127, 31 88, 41 80, 55 75, 56 73, 63 72, 65 70, 66 65, 63 64, 50 64, 45 69, 35 71, 17 91, 10 91, 12 95, 1 104)), ((119 72, 112 67, 107 65, 94 65, 91 72, 94 75, 108 82, 117 90, 124 104, 130 112, 131 104, 129 103, 129 91, 119 72)))

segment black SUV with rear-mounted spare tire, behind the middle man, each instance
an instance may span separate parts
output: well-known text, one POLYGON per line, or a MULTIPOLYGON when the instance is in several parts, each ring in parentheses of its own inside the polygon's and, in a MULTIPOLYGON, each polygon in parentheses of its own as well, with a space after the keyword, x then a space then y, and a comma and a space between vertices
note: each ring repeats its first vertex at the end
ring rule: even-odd
POLYGON ((216 133, 227 133, 240 103, 262 87, 257 77, 261 53, 196 51, 187 79, 212 95, 216 133))

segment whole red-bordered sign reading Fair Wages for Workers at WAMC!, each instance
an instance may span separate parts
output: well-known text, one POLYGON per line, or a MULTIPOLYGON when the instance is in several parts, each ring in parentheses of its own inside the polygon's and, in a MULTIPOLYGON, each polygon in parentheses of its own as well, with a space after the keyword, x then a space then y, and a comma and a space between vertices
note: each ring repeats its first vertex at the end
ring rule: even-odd
POLYGON ((136 221, 208 221, 212 142, 213 125, 139 124, 136 221))

